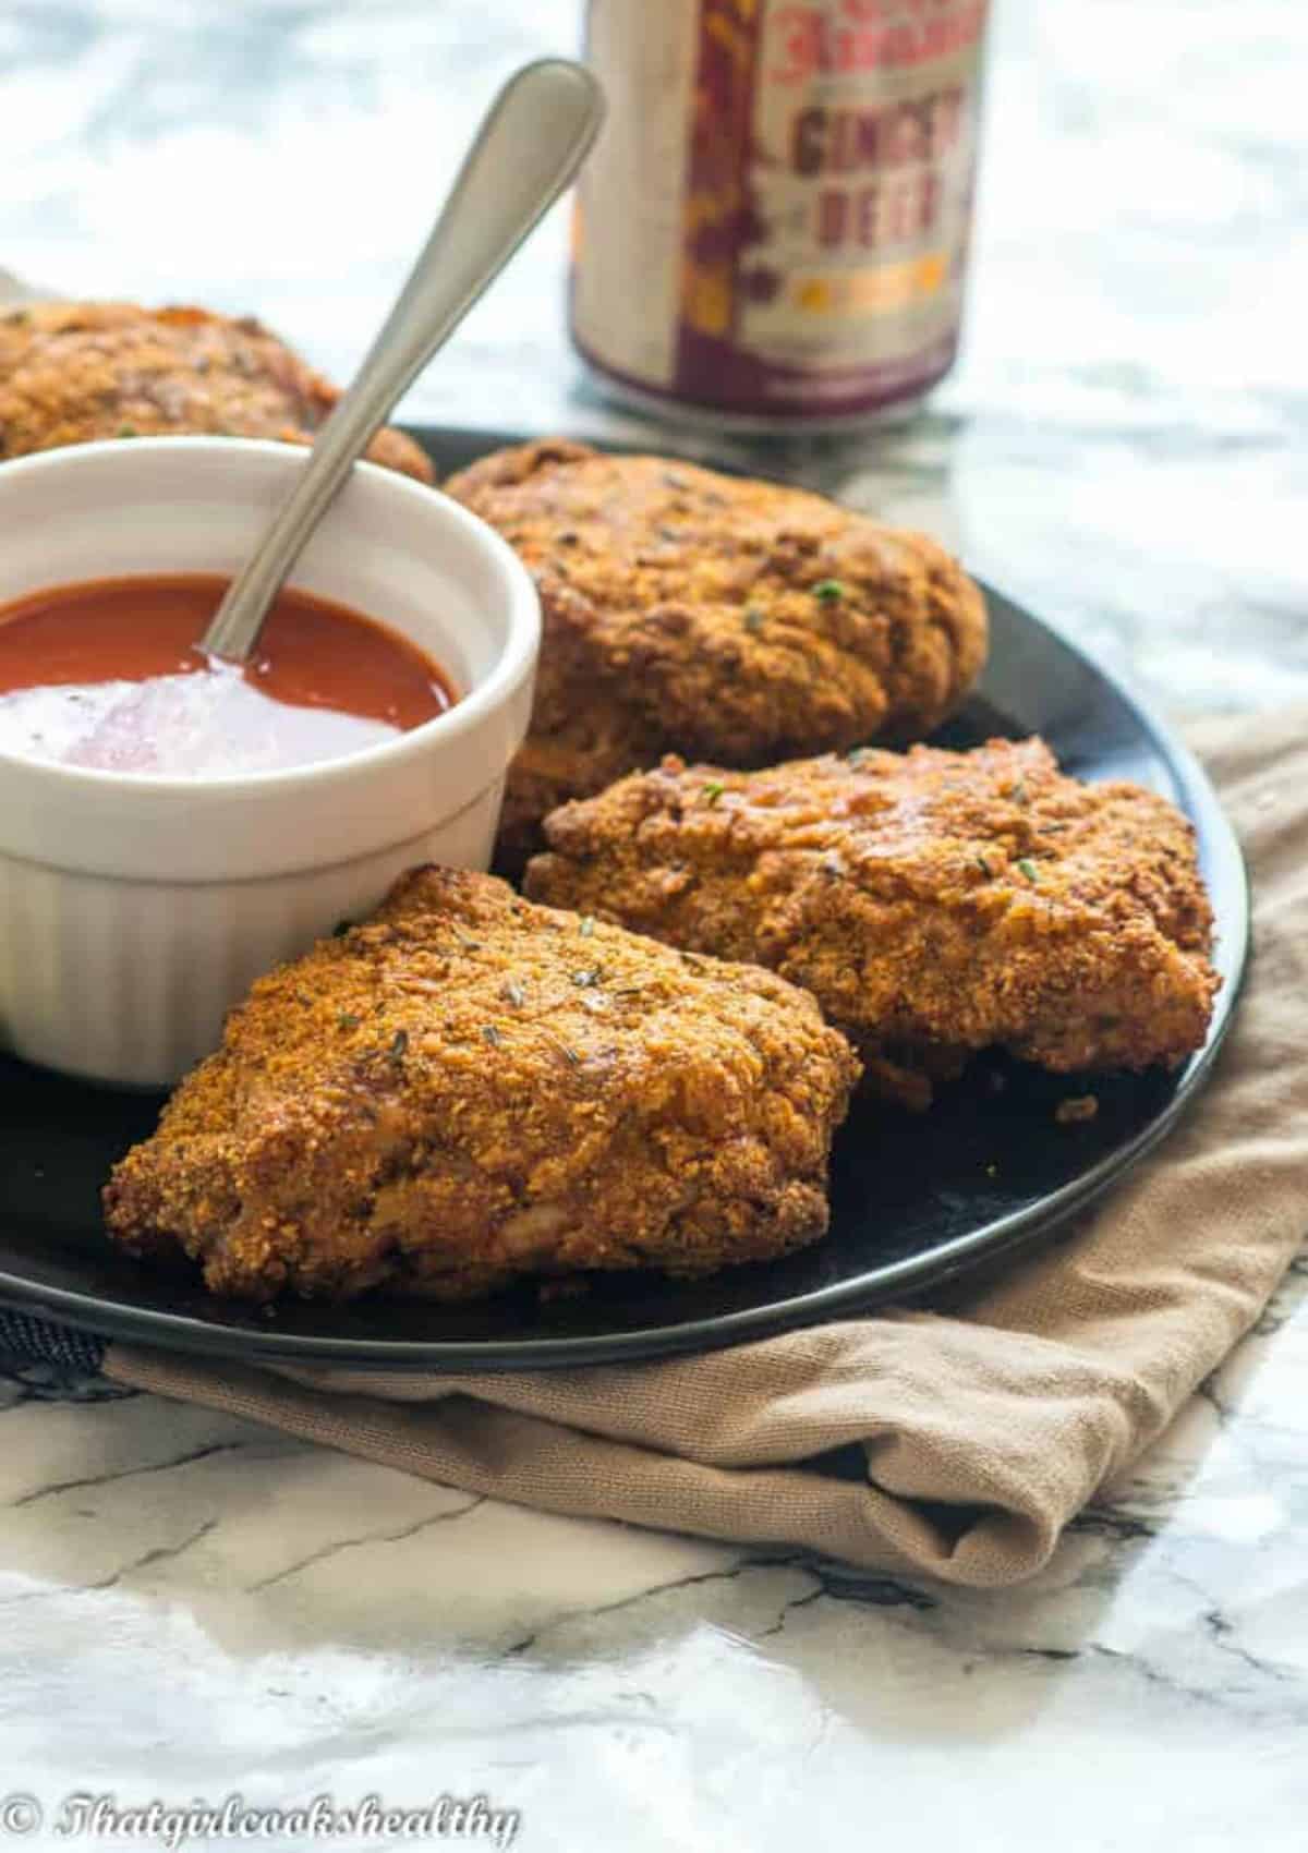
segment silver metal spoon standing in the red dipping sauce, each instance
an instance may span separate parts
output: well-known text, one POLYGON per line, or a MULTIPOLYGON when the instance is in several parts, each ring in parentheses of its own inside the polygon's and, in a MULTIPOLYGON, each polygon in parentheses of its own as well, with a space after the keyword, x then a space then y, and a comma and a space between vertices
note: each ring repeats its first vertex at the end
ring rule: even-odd
POLYGON ((509 78, 354 384, 313 439, 291 495, 232 580, 200 639, 202 650, 245 662, 296 554, 354 460, 567 187, 602 119, 604 96, 582 65, 543 57, 509 78))

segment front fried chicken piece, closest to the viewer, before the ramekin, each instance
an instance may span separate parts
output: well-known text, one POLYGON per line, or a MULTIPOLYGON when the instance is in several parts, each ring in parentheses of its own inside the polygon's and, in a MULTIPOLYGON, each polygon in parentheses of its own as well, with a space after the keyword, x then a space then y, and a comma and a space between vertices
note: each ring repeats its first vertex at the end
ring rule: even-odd
POLYGON ((773 973, 419 869, 254 986, 106 1217, 254 1299, 706 1273, 823 1234, 856 1075, 773 973))

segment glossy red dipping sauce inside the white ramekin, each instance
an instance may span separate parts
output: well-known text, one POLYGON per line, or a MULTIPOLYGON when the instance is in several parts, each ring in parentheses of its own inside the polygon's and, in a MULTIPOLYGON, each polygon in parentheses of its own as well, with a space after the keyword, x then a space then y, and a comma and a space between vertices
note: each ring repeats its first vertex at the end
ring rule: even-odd
POLYGON ((0 610, 0 752, 111 773, 220 778, 341 760, 454 706, 408 637, 282 591, 248 663, 196 639, 228 580, 93 580, 0 610))

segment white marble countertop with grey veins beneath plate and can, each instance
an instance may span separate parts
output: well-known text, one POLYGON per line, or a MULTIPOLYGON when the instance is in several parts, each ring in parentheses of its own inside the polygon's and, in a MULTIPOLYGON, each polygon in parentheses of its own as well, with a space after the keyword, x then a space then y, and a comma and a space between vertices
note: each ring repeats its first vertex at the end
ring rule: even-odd
MULTIPOLYGON (((0 263, 258 309, 346 372, 493 83, 576 15, 9 7, 0 263)), ((1173 712, 1308 697, 1297 24, 1282 0, 1000 6, 963 365, 902 432, 767 458, 941 532, 1173 712)), ((643 432, 567 352, 561 232, 411 417, 643 432)), ((1308 1266, 1012 1594, 500 1506, 13 1364, 0 1786, 43 1803, 31 1846, 69 1844, 80 1790, 482 1794, 561 1853, 1297 1847, 1306 1290, 1308 1266)))

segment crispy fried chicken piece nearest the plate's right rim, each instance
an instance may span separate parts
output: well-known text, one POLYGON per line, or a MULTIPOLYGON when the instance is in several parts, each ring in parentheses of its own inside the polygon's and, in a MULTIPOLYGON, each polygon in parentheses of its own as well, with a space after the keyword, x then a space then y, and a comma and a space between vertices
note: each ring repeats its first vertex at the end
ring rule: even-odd
POLYGON ((1058 1073, 1175 1064, 1217 977, 1193 832, 1039 739, 626 778, 547 821, 526 891, 813 991, 891 1095, 1000 1045, 1058 1073))

